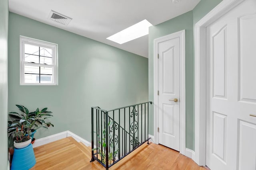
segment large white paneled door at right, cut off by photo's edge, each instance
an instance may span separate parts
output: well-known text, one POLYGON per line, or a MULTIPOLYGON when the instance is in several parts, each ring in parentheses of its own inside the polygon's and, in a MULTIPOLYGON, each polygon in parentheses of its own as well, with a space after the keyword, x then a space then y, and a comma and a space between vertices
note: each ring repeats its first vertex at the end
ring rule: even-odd
POLYGON ((256 170, 256 0, 244 0, 206 31, 206 166, 256 170))

